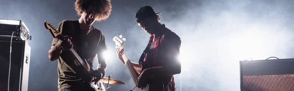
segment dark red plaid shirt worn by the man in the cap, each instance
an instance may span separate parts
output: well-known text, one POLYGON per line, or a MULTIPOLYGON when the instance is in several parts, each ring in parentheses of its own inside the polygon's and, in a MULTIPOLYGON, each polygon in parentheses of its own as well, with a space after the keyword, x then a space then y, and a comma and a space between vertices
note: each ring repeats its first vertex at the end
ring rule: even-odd
MULTIPOLYGON (((164 24, 158 28, 157 33, 149 38, 148 45, 141 55, 141 61, 145 61, 149 68, 164 66, 168 63, 179 62, 177 56, 179 55, 179 48, 181 45, 180 37, 177 36, 164 24), (153 46, 151 44, 153 43, 153 46)), ((180 64, 180 63, 179 63, 180 64)), ((140 64, 141 65, 141 64, 140 64)), ((175 91, 173 75, 160 78, 165 87, 165 91, 175 91)))

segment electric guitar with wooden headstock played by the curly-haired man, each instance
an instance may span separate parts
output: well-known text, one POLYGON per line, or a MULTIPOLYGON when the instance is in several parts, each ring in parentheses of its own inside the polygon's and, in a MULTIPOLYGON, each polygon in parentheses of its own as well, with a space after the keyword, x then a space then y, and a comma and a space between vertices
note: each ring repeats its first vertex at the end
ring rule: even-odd
MULTIPOLYGON (((46 29, 48 29, 51 32, 53 38, 58 38, 60 40, 64 40, 63 36, 59 34, 59 31, 57 31, 55 27, 53 27, 47 21, 45 21, 44 24, 45 24, 46 29)), ((92 71, 94 71, 94 68, 90 67, 90 65, 87 63, 86 59, 82 59, 73 48, 69 49, 69 51, 78 60, 77 62, 74 61, 74 63, 79 63, 80 68, 82 68, 82 70, 83 70, 82 72, 85 74, 85 75, 83 75, 83 77, 91 79, 91 81, 89 80, 86 82, 86 84, 89 85, 89 89, 91 89, 91 91, 106 91, 101 80, 99 80, 97 83, 95 83, 95 81, 93 81, 96 78, 96 77, 91 76, 91 73, 92 73, 92 71)), ((64 60, 64 63, 72 64, 73 61, 72 60, 70 60, 70 61, 64 60)))

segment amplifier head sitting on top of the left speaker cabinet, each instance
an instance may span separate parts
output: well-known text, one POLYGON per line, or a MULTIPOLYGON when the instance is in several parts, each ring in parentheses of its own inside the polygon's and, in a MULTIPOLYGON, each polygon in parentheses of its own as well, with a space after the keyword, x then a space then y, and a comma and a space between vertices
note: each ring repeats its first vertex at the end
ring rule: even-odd
POLYGON ((9 37, 12 32, 18 40, 31 40, 29 29, 22 20, 0 19, 0 37, 9 37))

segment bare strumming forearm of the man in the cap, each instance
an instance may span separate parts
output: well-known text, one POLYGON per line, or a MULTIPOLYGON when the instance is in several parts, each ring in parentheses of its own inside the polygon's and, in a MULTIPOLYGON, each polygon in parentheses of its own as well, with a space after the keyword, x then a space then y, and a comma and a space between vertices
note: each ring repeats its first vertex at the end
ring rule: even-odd
POLYGON ((168 76, 181 73, 181 64, 165 65, 155 68, 146 68, 152 76, 168 76))

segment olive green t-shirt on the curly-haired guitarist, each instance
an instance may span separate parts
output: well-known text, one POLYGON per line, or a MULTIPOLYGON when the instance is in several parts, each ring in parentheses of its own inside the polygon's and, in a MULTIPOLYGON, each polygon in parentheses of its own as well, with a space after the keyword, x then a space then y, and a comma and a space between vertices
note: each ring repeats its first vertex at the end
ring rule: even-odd
MULTIPOLYGON (((78 21, 63 20, 57 28, 59 34, 63 36, 71 36, 71 42, 73 43, 73 49, 82 58, 86 59, 91 67, 97 54, 98 60, 104 60, 102 58, 103 51, 107 50, 105 38, 103 33, 95 28, 93 25, 90 30, 81 30, 78 21)), ((52 45, 58 42, 57 38, 54 38, 52 45)), ((66 88, 82 88, 81 84, 83 79, 81 75, 81 65, 71 54, 69 50, 63 50, 58 58, 58 91, 66 88)))

